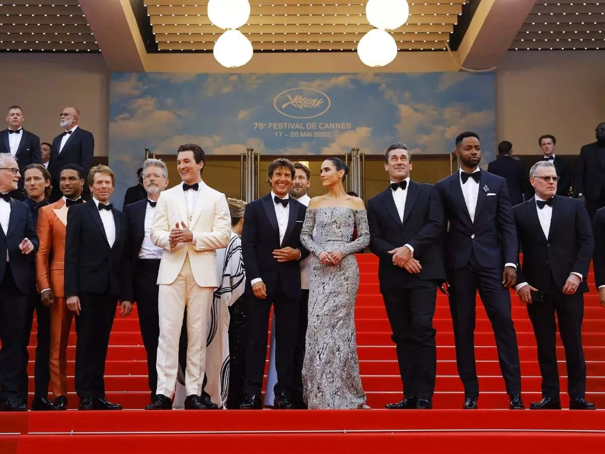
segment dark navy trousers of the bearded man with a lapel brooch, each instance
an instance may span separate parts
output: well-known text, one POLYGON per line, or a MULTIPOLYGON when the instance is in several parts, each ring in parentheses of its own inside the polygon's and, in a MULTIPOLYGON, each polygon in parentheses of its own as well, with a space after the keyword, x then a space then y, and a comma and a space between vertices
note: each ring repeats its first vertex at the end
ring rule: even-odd
POLYGON ((494 330, 500 370, 506 392, 521 392, 521 368, 517 334, 511 317, 511 294, 502 286, 502 268, 486 269, 477 265, 474 255, 459 269, 448 272, 450 312, 456 341, 456 363, 465 395, 479 395, 475 363, 476 293, 494 330))

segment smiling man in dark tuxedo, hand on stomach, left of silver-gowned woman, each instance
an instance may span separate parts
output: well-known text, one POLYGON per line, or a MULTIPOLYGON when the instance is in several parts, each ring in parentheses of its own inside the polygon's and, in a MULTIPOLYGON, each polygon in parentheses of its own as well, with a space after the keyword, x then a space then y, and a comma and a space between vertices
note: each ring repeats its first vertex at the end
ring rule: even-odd
POLYGON ((293 409, 294 350, 301 298, 300 260, 307 207, 289 195, 295 168, 287 159, 269 165, 271 192, 250 202, 244 214, 241 249, 246 265, 246 378, 241 409, 261 409, 261 386, 267 357, 269 311, 273 305, 276 332, 276 409, 293 409))

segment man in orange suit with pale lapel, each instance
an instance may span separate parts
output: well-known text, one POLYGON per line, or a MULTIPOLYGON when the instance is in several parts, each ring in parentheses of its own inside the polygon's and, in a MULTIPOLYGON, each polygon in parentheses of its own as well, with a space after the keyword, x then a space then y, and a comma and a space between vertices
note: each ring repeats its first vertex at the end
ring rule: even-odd
POLYGON ((63 194, 38 214, 40 245, 36 254, 36 280, 42 303, 50 305, 50 381, 53 410, 67 410, 67 342, 74 312, 65 303, 64 257, 67 211, 82 203, 84 171, 77 164, 65 165, 59 174, 63 194))

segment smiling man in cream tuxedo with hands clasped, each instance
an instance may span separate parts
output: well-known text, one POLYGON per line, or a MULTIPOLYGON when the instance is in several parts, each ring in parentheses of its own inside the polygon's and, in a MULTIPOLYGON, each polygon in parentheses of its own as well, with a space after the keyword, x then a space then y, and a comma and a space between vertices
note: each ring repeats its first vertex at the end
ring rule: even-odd
POLYGON ((157 390, 148 410, 172 408, 178 367, 178 339, 187 308, 186 409, 216 409, 201 397, 206 362, 206 331, 212 294, 218 286, 216 249, 231 235, 231 217, 221 192, 201 180, 205 155, 200 146, 185 143, 177 151, 178 186, 163 191, 157 201, 151 241, 164 249, 157 277, 160 338, 157 348, 157 390))

